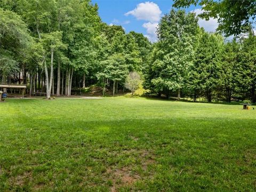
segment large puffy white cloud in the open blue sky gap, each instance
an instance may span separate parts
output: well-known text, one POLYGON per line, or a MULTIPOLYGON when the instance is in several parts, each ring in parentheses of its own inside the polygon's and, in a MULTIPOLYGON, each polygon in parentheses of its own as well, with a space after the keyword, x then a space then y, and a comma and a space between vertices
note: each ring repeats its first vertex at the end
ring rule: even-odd
POLYGON ((138 20, 156 22, 160 20, 161 13, 162 11, 157 4, 153 2, 145 2, 138 4, 134 10, 125 13, 125 15, 133 15, 138 20))

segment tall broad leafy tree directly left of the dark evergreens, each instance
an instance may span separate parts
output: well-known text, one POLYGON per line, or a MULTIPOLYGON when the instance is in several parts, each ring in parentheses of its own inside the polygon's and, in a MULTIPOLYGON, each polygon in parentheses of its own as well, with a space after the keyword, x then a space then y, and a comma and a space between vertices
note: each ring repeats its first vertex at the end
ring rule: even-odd
POLYGON ((195 35, 199 27, 194 13, 171 10, 160 21, 157 29, 161 56, 154 61, 159 71, 153 84, 162 84, 168 91, 177 91, 180 100, 189 66, 194 57, 195 35))

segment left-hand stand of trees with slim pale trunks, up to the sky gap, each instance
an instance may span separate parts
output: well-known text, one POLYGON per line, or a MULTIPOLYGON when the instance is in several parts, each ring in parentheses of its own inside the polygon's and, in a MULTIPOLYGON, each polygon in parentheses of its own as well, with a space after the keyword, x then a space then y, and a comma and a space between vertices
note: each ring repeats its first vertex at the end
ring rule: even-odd
MULTIPOLYGON (((36 91, 70 95, 72 87, 123 87, 141 73, 151 43, 142 34, 108 26, 87 0, 4 0, 0 3, 0 77, 36 91)), ((119 87, 119 88, 120 88, 119 87)))

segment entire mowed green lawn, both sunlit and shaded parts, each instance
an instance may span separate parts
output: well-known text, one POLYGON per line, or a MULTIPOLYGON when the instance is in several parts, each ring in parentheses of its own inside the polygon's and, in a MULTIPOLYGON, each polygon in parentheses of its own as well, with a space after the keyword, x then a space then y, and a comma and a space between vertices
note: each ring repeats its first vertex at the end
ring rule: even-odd
POLYGON ((0 103, 0 191, 255 191, 256 110, 145 98, 0 103))

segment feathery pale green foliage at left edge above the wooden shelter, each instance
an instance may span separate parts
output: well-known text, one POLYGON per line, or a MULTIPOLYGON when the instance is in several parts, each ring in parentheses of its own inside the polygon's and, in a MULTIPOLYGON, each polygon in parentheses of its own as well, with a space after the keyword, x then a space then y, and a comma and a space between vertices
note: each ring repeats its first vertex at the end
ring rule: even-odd
POLYGON ((22 52, 32 39, 19 15, 2 8, 0 15, 0 72, 6 76, 18 71, 18 61, 26 58, 22 52))

